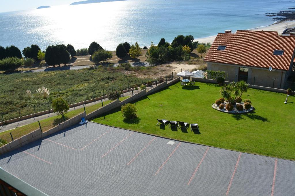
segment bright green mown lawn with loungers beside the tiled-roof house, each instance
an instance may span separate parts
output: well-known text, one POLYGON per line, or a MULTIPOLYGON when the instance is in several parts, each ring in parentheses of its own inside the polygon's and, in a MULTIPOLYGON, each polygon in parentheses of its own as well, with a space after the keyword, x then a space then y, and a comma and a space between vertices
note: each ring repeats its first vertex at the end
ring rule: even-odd
POLYGON ((143 133, 204 145, 295 160, 295 97, 257 89, 242 96, 252 101, 255 110, 248 114, 228 114, 211 105, 220 97, 215 84, 196 83, 182 89, 180 83, 135 102, 137 120, 124 122, 120 109, 94 121, 143 133), (104 119, 105 118, 105 119, 104 119), (171 130, 155 126, 158 119, 198 123, 200 132, 171 130))

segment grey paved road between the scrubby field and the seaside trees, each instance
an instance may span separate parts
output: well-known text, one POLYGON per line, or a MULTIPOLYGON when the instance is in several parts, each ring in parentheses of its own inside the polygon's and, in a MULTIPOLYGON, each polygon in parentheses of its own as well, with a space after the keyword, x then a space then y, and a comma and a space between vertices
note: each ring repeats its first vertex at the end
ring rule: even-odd
MULTIPOLYGON (((120 63, 114 63, 114 66, 117 67, 120 63)), ((148 62, 140 61, 140 62, 132 62, 131 66, 150 66, 148 62)), ((21 73, 35 73, 35 72, 42 72, 42 71, 60 71, 60 70, 78 70, 88 68, 89 65, 83 66, 62 66, 62 67, 54 67, 54 68, 42 68, 42 69, 33 69, 28 71, 22 71, 21 73)))

